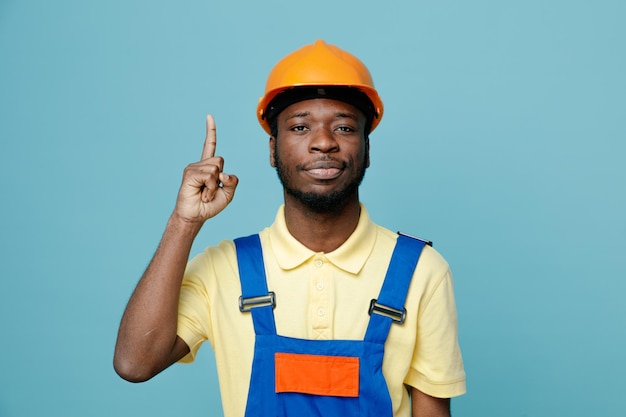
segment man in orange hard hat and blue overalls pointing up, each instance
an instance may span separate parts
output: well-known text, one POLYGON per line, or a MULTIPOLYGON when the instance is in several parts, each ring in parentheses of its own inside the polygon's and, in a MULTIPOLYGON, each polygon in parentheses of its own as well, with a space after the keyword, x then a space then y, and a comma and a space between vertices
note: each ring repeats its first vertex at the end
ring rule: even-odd
POLYGON ((209 340, 226 416, 449 416, 465 374, 448 265, 359 201, 382 114, 351 54, 316 41, 281 60, 257 115, 284 205, 259 235, 187 263, 238 183, 208 116, 202 158, 122 318, 116 371, 145 381, 209 340))

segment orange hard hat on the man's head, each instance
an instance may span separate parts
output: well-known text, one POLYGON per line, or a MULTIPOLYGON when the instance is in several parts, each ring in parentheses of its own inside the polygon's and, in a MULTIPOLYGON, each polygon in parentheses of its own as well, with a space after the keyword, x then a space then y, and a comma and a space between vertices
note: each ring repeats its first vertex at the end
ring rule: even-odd
POLYGON ((266 117, 268 106, 279 93, 294 87, 356 88, 367 96, 373 106, 370 132, 383 117, 383 102, 367 67, 354 55, 321 39, 290 53, 270 72, 265 95, 259 99, 257 106, 259 123, 270 135, 266 117))

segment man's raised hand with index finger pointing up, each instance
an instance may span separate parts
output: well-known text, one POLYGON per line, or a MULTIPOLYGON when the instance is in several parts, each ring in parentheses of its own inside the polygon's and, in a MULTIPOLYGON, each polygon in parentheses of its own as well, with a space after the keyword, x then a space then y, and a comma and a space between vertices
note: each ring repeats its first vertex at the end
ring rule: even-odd
POLYGON ((232 201, 239 179, 223 172, 224 159, 215 156, 217 133, 213 116, 206 118, 206 138, 199 162, 185 168, 174 215, 190 223, 204 223, 232 201))

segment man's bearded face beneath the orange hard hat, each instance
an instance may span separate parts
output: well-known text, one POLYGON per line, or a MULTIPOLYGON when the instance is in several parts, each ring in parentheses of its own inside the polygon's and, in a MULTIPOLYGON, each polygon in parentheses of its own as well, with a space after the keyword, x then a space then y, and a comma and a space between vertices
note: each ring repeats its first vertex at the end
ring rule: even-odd
POLYGON ((287 107, 277 122, 277 137, 270 138, 270 163, 283 184, 286 203, 333 211, 358 202, 369 166, 361 111, 341 101, 312 99, 287 107))

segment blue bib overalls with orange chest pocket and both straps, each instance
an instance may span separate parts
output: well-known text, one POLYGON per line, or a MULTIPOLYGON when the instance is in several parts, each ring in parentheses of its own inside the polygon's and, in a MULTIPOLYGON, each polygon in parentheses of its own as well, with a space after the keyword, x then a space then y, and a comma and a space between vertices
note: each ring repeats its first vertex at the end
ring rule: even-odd
MULTIPOLYGON (((429 242, 428 242, 429 243, 429 242)), ((404 303, 425 242, 399 235, 363 340, 306 340, 276 334, 258 235, 235 240, 242 296, 256 334, 246 417, 392 417, 382 373, 384 345, 404 303)), ((365 312, 364 312, 365 314, 365 312)))

